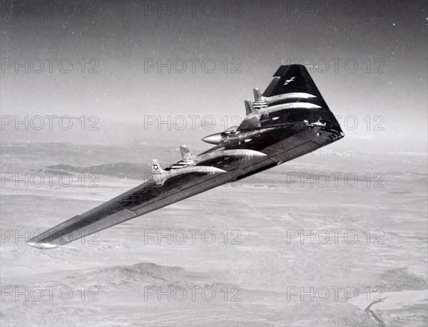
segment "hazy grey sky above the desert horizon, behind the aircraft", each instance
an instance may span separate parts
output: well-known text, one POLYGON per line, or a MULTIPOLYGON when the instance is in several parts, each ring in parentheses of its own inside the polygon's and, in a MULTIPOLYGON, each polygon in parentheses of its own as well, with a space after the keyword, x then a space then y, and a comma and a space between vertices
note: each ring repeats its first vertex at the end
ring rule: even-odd
POLYGON ((199 142, 297 61, 342 146, 427 152, 426 1, 1 1, 0 19, 1 142, 199 142))

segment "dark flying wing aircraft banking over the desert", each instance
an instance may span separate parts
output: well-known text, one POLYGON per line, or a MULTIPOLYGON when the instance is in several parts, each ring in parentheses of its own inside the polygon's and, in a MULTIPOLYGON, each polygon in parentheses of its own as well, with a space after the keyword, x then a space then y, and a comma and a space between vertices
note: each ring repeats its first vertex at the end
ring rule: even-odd
POLYGON ((280 66, 263 94, 258 88, 253 91, 255 100, 245 100, 246 117, 239 126, 203 138, 215 147, 192 155, 182 145, 182 160, 165 170, 153 160, 151 180, 36 235, 28 244, 41 249, 67 244, 344 136, 305 66, 280 66))

